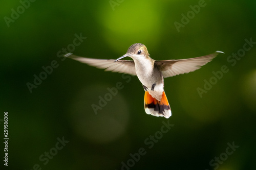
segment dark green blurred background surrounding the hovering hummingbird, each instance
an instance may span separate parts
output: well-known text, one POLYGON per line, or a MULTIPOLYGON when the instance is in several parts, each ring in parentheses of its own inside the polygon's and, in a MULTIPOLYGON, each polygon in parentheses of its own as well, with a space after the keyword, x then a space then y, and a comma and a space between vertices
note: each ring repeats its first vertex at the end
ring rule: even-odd
MULTIPOLYGON (((5 1, 0 13, 2 130, 4 111, 9 118, 9 162, 6 167, 2 161, 3 168, 255 169, 256 45, 243 48, 245 39, 256 42, 256 1, 5 1), (200 3, 200 11, 191 12, 200 3), (189 22, 177 30, 174 23, 182 24, 187 13, 189 22), (75 34, 87 38, 72 46, 75 34), (57 56, 68 48, 78 56, 117 59, 137 42, 155 60, 225 54, 165 79, 169 119, 145 113, 137 77, 124 79, 57 56), (242 57, 230 62, 232 53, 242 57), (34 75, 54 60, 58 66, 31 92, 28 82, 34 84, 34 75), (200 97, 198 87, 214 80, 212 71, 223 65, 228 72, 200 97), (123 88, 95 114, 92 104, 99 105, 117 82, 123 88), (174 125, 165 134, 163 122, 174 125), (147 140, 150 135, 159 139, 147 140), (69 142, 56 150, 57 138, 69 142), (227 143, 239 148, 227 155, 227 143), (146 154, 132 160, 140 148, 146 154)), ((3 159, 3 142, 1 147, 3 159)))

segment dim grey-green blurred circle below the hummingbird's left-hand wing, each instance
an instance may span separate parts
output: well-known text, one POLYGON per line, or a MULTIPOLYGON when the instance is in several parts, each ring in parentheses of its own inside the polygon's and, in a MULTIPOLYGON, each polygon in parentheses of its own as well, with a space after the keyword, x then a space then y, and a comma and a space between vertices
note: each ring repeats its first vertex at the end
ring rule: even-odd
POLYGON ((70 116, 74 130, 93 142, 105 143, 117 139, 125 132, 129 120, 128 107, 120 90, 109 98, 111 100, 106 100, 106 94, 111 94, 108 87, 113 88, 111 85, 86 87, 73 99, 70 116), (94 110, 92 104, 101 109, 94 110))

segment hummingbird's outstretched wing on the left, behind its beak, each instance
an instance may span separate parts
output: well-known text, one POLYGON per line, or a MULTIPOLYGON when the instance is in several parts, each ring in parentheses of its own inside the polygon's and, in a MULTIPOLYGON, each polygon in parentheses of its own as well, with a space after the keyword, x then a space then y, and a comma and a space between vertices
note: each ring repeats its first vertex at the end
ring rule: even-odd
POLYGON ((135 64, 133 60, 106 60, 106 59, 93 59, 75 56, 72 53, 68 53, 65 57, 86 63, 97 68, 105 69, 105 71, 120 72, 136 76, 135 64))

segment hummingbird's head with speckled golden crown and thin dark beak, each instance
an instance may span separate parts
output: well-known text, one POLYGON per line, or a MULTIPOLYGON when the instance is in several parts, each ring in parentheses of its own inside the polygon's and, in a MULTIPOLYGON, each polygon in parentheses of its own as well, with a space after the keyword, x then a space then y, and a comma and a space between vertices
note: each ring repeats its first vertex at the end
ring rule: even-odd
POLYGON ((147 48, 144 44, 141 43, 136 43, 131 45, 126 54, 123 55, 122 57, 119 57, 118 59, 116 59, 115 61, 118 61, 124 57, 131 57, 132 59, 147 59, 150 57, 150 54, 148 54, 147 52, 147 48))

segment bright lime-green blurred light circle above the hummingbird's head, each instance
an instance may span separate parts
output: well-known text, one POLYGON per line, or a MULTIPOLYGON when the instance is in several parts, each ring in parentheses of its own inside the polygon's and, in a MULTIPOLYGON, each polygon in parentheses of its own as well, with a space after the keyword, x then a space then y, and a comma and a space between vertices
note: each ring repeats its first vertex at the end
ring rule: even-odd
POLYGON ((118 46, 155 44, 160 40, 162 10, 157 2, 123 1, 114 10, 104 4, 99 11, 102 38, 118 53, 125 53, 118 46))

